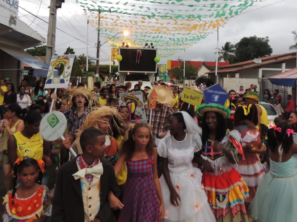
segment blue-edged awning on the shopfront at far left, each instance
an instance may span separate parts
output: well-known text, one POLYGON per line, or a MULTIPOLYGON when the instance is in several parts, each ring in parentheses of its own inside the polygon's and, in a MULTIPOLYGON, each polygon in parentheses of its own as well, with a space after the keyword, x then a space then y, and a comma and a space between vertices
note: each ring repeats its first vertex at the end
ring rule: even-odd
POLYGON ((44 62, 40 61, 39 59, 35 58, 34 56, 28 54, 27 52, 18 49, 13 48, 10 46, 0 45, 0 49, 8 53, 9 55, 13 56, 17 60, 22 61, 23 63, 26 63, 30 65, 32 68, 34 68, 33 76, 37 77, 46 77, 49 65, 45 64, 44 62), (35 71, 36 70, 36 71, 35 71))

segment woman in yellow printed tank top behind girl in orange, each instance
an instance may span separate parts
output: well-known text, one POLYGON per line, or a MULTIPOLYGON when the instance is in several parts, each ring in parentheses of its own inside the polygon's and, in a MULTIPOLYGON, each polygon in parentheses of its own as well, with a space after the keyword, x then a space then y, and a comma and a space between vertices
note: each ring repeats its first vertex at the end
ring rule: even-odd
POLYGON ((52 165, 50 142, 44 141, 39 132, 41 119, 40 113, 30 110, 24 116, 24 129, 14 133, 8 139, 7 151, 10 166, 14 165, 17 158, 43 159, 46 166, 52 165))

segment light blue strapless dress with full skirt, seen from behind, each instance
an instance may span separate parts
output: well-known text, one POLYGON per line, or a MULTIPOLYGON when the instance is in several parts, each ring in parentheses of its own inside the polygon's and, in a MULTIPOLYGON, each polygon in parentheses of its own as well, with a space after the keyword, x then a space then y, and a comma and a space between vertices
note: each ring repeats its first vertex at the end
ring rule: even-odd
POLYGON ((297 221, 297 157, 286 162, 270 159, 270 171, 251 204, 257 222, 297 221))

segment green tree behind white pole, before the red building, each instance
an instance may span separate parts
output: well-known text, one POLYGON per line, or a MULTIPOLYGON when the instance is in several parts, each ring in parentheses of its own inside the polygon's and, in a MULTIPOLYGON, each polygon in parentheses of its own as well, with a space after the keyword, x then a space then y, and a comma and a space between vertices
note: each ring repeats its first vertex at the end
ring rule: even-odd
POLYGON ((174 69, 169 70, 169 73, 173 77, 175 77, 179 81, 183 81, 183 79, 196 79, 198 75, 198 69, 199 67, 195 67, 194 65, 191 64, 191 61, 186 61, 185 62, 185 78, 183 77, 183 61, 179 60, 179 64, 181 64, 180 67, 176 67, 174 69))

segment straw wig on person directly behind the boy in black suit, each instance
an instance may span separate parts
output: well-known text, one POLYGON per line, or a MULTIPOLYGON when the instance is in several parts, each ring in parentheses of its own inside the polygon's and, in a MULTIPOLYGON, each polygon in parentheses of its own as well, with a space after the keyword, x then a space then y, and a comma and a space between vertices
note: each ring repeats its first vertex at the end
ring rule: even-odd
MULTIPOLYGON (((85 121, 83 122, 81 128, 78 130, 77 138, 80 137, 82 132, 88 128, 94 127, 96 129, 99 129, 99 122, 101 122, 102 117, 110 117, 114 118, 117 117, 118 120, 123 121, 121 113, 118 112, 118 109, 116 107, 110 107, 110 106, 102 106, 102 107, 96 107, 92 109, 92 111, 86 116, 85 121)), ((116 122, 116 121, 114 121, 116 122)), ((116 125, 116 127, 119 127, 116 125)))

